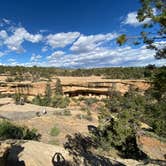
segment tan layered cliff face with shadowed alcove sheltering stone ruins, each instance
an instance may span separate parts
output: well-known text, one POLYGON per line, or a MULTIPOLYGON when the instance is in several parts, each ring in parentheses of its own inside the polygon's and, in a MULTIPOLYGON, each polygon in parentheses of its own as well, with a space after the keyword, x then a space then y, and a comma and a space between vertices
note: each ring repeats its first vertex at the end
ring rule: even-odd
MULTIPOLYGON (((135 86, 139 90, 146 90, 149 88, 149 82, 145 80, 111 80, 102 79, 101 77, 59 77, 63 87, 63 92, 69 96, 78 95, 107 95, 108 89, 114 86, 117 91, 122 94, 128 91, 131 85, 135 86)), ((51 88, 55 89, 56 78, 52 79, 51 88)), ((13 94, 23 93, 30 96, 37 94, 43 95, 45 92, 47 82, 0 82, 0 93, 2 94, 13 94)))

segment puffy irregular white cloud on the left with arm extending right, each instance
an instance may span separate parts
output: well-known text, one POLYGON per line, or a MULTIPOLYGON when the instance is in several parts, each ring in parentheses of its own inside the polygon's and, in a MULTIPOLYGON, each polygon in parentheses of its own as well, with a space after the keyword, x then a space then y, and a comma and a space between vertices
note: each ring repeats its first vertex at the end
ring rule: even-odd
POLYGON ((23 27, 17 28, 14 31, 14 34, 9 36, 5 41, 4 44, 7 45, 7 47, 16 52, 22 52, 24 49, 22 47, 22 43, 24 41, 29 41, 32 43, 37 43, 42 40, 41 34, 35 34, 32 35, 23 27))

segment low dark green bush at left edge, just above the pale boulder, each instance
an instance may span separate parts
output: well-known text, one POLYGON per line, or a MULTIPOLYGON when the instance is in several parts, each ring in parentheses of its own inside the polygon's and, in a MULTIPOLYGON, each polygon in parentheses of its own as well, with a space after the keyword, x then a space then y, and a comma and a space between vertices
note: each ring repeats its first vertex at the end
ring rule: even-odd
POLYGON ((9 121, 0 122, 0 139, 25 139, 39 140, 40 134, 36 129, 29 129, 26 126, 17 126, 9 121))

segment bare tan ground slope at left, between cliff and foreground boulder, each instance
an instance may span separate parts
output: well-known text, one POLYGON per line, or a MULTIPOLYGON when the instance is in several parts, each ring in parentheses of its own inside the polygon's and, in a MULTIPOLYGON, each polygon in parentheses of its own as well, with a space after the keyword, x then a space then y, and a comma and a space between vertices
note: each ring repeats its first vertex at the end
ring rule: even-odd
POLYGON ((92 112, 92 121, 86 119, 78 119, 77 114, 83 114, 82 111, 77 109, 70 109, 71 116, 55 115, 56 111, 62 111, 63 109, 42 107, 33 104, 16 105, 10 98, 0 99, 0 103, 4 103, 0 106, 0 118, 6 118, 14 121, 20 125, 26 125, 30 128, 36 128, 41 134, 41 142, 53 143, 62 145, 65 142, 67 134, 84 133, 86 134, 88 125, 97 125, 97 113, 92 112), (46 109, 47 114, 41 117, 36 116, 36 112, 46 109), (50 135, 51 129, 56 125, 60 130, 58 136, 53 137, 50 135))

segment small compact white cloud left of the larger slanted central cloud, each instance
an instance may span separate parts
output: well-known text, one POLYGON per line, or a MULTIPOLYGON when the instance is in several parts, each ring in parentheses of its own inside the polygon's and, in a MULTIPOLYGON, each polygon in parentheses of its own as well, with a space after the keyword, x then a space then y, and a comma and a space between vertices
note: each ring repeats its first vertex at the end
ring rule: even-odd
POLYGON ((46 37, 46 44, 52 48, 64 48, 72 44, 78 37, 79 32, 50 34, 46 37))

